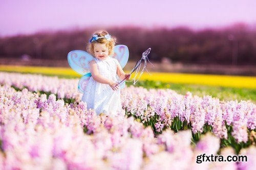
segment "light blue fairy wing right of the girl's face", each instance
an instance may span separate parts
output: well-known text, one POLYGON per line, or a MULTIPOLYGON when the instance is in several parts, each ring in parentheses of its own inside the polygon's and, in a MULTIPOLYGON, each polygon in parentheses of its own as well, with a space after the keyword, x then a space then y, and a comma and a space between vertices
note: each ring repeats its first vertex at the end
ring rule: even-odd
POLYGON ((123 68, 129 58, 128 47, 126 45, 116 45, 114 47, 114 55, 111 57, 117 59, 121 67, 123 68))

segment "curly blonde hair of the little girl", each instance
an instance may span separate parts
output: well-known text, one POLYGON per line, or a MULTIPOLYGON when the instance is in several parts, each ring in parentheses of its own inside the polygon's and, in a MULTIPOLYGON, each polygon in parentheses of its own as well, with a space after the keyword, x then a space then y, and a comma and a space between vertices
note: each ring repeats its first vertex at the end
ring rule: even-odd
MULTIPOLYGON (((97 31, 93 35, 98 35, 98 37, 103 37, 105 35, 109 34, 106 31, 97 31)), ((95 43, 101 43, 101 44, 106 44, 106 47, 109 48, 109 55, 114 54, 114 46, 116 44, 116 38, 111 36, 110 40, 107 40, 105 38, 99 38, 93 42, 89 42, 87 44, 87 52, 92 54, 94 56, 94 44, 95 43)))

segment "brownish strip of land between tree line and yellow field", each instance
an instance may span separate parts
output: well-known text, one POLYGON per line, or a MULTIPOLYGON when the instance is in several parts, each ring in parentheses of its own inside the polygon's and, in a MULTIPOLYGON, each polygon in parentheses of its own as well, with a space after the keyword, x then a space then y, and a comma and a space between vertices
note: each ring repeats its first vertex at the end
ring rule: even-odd
MULTIPOLYGON (((209 75, 234 75, 234 76, 256 76, 256 67, 254 65, 221 65, 221 64, 191 64, 191 63, 171 63, 166 61, 151 61, 147 64, 147 70, 155 72, 182 72, 190 74, 209 74, 209 75)), ((125 65, 125 70, 132 70, 135 61, 129 60, 125 65)), ((30 59, 22 60, 20 58, 0 56, 0 65, 22 65, 35 67, 64 67, 70 68, 68 60, 47 60, 30 59)))

